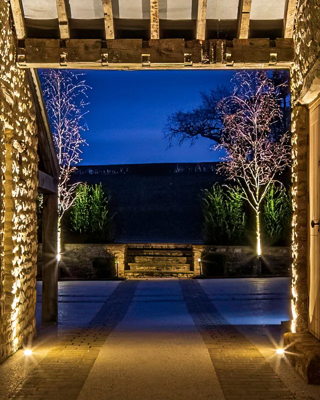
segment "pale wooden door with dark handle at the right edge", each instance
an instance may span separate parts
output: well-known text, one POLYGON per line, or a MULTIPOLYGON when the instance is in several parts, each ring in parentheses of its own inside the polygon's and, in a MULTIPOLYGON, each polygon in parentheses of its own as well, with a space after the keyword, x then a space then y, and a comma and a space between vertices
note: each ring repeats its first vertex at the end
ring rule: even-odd
POLYGON ((309 329, 320 339, 320 106, 309 114, 309 329))

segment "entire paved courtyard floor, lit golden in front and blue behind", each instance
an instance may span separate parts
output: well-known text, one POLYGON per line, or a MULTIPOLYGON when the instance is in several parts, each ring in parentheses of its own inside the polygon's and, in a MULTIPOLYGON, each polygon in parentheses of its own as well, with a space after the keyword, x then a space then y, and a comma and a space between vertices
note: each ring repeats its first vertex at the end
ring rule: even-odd
MULTIPOLYGON (((320 399, 276 355, 289 279, 60 282, 59 327, 0 365, 0 399, 320 399)), ((40 284, 37 284, 40 327, 40 284)))

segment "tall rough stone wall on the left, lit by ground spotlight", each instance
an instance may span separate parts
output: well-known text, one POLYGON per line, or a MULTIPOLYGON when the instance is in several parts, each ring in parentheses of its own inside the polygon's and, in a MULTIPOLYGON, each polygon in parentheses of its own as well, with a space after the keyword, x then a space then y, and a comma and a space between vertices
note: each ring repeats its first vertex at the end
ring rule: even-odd
POLYGON ((0 361, 35 334, 37 138, 28 73, 0 0, 0 361))

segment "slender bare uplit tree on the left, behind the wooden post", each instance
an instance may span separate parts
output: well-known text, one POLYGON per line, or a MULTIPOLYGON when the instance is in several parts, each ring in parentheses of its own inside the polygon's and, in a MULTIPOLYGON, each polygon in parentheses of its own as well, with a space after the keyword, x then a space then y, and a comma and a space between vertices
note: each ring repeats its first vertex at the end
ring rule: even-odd
POLYGON ((58 182, 58 258, 61 252, 61 218, 75 200, 79 183, 69 182, 76 164, 81 161, 81 147, 86 144, 81 133, 87 130, 84 114, 89 86, 82 74, 68 69, 46 69, 40 74, 43 97, 51 125, 60 166, 58 182))

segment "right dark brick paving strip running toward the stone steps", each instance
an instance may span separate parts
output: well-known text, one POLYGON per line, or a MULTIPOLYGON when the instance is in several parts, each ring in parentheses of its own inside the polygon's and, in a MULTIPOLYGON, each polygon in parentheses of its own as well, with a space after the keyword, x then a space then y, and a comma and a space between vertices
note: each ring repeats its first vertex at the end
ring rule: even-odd
POLYGON ((188 311, 210 354, 226 400, 294 396, 259 350, 219 314, 196 280, 180 280, 188 311))

